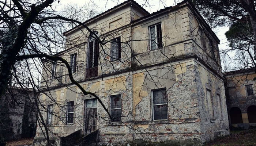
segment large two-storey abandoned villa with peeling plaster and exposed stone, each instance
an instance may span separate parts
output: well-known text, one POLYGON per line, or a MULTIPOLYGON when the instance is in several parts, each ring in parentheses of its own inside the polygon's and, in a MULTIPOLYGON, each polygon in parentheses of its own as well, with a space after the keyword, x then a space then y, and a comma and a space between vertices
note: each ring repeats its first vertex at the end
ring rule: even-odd
MULTIPOLYGON (((83 25, 65 32, 65 50, 54 55, 69 70, 44 60, 40 101, 55 145, 95 130, 101 145, 201 145, 229 134, 219 39, 190 2, 149 14, 127 0, 83 24, 92 32, 83 25)), ((45 143, 37 126, 34 145, 45 143)))

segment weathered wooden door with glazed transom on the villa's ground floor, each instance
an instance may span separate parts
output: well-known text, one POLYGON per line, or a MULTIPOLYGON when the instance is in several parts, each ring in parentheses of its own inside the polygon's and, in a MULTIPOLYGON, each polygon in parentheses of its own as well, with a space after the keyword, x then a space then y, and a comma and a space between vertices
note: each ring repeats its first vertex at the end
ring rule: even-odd
POLYGON ((97 130, 97 99, 84 101, 84 135, 97 130))

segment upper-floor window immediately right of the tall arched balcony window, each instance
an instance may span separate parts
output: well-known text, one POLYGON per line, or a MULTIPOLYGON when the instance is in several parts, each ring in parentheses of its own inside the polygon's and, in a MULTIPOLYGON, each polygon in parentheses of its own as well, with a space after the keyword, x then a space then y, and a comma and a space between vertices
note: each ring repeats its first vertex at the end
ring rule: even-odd
POLYGON ((111 58, 110 61, 115 61, 117 59, 121 58, 121 37, 117 37, 111 40, 111 45, 110 45, 110 54, 111 58))

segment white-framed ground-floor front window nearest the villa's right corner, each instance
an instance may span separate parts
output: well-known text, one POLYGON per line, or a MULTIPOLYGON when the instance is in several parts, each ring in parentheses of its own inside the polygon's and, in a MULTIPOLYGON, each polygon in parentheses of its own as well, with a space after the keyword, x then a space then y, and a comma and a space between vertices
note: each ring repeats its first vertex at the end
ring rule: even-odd
POLYGON ((166 89, 157 89, 153 94, 153 120, 167 119, 167 96, 166 89))

